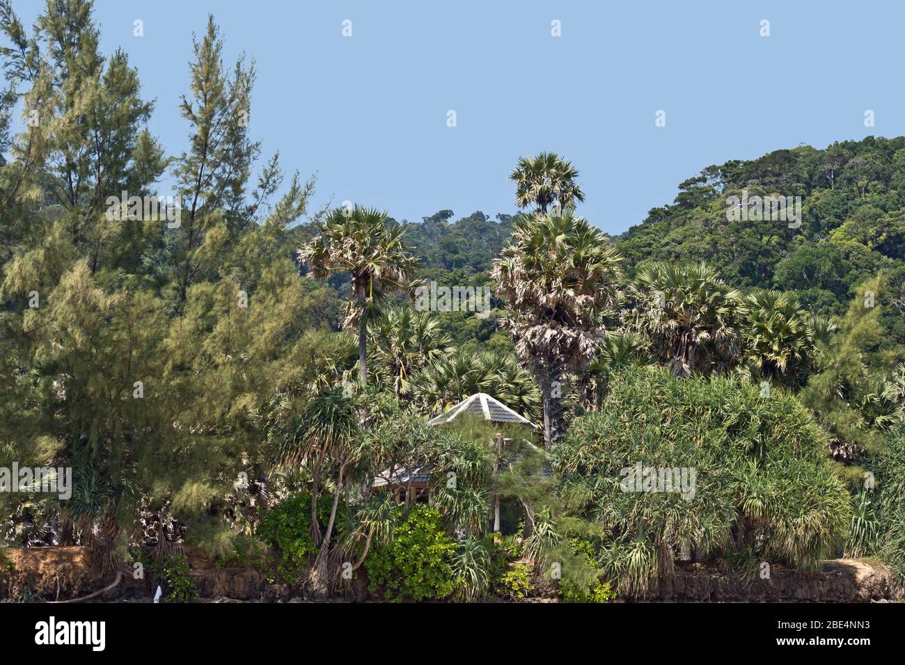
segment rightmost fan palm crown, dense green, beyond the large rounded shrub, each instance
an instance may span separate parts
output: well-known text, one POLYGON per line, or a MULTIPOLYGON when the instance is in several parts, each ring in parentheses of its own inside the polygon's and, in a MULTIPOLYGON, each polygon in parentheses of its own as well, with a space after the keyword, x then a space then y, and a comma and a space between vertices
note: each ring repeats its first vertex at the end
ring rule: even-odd
POLYGON ((825 324, 815 323, 793 296, 774 290, 752 291, 738 313, 748 366, 764 377, 785 376, 801 383, 813 365, 815 342, 824 335, 825 324))

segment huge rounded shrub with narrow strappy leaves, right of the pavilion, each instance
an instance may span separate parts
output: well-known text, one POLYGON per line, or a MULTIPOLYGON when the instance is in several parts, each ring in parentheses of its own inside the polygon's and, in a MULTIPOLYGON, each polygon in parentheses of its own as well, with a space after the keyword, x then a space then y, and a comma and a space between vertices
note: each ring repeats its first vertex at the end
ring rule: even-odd
POLYGON ((680 554, 750 548, 760 561, 812 571, 842 544, 852 515, 812 415, 794 396, 761 396, 738 378, 659 367, 614 375, 600 412, 576 420, 554 466, 577 515, 602 530, 598 560, 620 593, 643 593, 680 554))

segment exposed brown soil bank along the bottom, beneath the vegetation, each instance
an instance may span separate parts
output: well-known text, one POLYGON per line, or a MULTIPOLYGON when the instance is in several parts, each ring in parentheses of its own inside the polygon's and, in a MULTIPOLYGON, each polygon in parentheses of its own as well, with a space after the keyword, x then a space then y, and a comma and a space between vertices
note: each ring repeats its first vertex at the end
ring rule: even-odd
MULTIPOLYGON (((83 547, 33 547, 0 550, 0 600, 67 600, 90 594, 109 581, 95 574, 83 547), (34 598, 37 600, 37 598, 34 598)), ((203 556, 187 552, 192 576, 203 598, 288 601, 297 595, 285 585, 269 584, 250 568, 216 568, 203 556)), ((739 580, 702 564, 682 564, 676 575, 649 592, 643 602, 693 603, 869 603, 903 598, 898 579, 886 566, 869 559, 827 561, 815 575, 774 565, 769 579, 739 580)), ((364 592, 364 590, 360 590, 364 592)), ((116 600, 148 592, 145 584, 124 576, 116 589, 95 600, 116 600)), ((360 594, 365 596, 366 593, 360 594)), ((358 598, 364 600, 364 597, 358 598)), ((632 601, 630 598, 622 600, 632 601)))

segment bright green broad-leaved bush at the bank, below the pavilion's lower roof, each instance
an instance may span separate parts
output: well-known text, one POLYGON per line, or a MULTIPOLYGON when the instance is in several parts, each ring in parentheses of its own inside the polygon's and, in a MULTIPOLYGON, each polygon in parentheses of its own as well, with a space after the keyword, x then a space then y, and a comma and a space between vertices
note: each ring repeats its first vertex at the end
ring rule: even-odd
POLYGON ((455 550, 440 513, 424 505, 414 506, 405 522, 396 527, 392 542, 376 546, 367 556, 370 589, 383 589, 391 599, 445 598, 457 588, 452 572, 455 550))

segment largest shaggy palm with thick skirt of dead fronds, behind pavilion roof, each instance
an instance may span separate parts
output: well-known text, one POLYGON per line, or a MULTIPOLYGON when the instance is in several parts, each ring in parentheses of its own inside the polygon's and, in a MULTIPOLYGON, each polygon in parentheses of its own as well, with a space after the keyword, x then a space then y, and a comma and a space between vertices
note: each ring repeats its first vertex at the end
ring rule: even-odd
POLYGON ((512 227, 493 278, 509 302, 503 322, 519 358, 538 378, 544 443, 550 447, 562 420, 554 382, 582 372, 596 355, 605 318, 618 305, 622 257, 602 231, 569 212, 522 215, 512 227))

